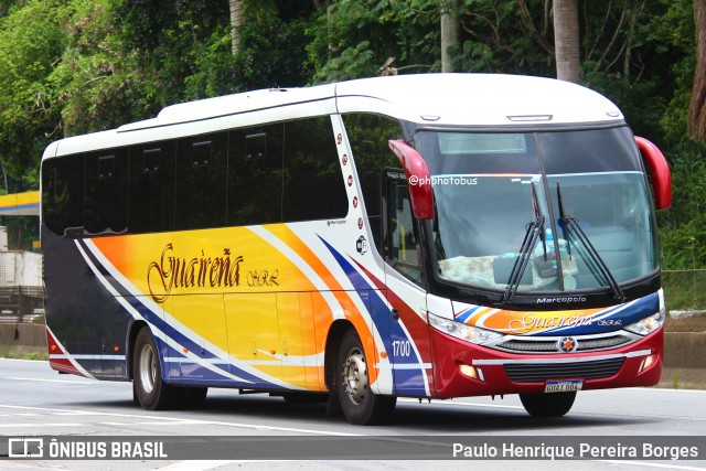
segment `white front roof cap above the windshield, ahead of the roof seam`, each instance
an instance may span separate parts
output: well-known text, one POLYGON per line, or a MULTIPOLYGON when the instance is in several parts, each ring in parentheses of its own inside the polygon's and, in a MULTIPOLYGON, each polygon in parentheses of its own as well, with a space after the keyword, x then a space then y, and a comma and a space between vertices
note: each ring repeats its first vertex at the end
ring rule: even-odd
POLYGON ((620 122, 618 107, 569 82, 501 74, 400 75, 336 85, 340 113, 379 111, 413 122, 462 126, 620 122))

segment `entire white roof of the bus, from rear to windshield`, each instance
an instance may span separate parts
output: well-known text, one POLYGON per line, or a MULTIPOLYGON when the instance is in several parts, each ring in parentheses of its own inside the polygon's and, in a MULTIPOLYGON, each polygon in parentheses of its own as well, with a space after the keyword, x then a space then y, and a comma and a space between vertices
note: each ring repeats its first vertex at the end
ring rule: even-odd
POLYGON ((152 119, 66 138, 44 158, 333 113, 375 113, 430 126, 619 124, 602 95, 552 78, 419 74, 274 88, 168 106, 152 119))

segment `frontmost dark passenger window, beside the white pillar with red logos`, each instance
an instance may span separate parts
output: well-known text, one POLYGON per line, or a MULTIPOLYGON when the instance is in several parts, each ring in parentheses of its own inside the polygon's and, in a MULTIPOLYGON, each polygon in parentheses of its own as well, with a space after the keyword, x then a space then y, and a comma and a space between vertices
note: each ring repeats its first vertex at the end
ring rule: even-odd
POLYGON ((285 125, 282 221, 338 220, 349 202, 331 118, 285 125))

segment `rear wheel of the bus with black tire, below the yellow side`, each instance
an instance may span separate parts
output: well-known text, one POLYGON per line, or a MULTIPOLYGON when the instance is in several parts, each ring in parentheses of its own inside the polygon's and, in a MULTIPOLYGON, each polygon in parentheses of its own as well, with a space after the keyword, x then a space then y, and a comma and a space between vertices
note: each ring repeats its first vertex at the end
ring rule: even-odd
POLYGON ((132 388, 143 409, 168 409, 176 405, 180 395, 162 379, 159 351, 147 325, 140 329, 135 339, 132 372, 132 388))

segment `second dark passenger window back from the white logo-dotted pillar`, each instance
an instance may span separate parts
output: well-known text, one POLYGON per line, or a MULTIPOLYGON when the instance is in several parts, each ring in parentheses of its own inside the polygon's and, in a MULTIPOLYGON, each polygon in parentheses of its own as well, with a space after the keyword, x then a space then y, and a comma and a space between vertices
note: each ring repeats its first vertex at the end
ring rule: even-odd
POLYGON ((284 125, 235 129, 228 139, 226 224, 281 222, 284 125))

